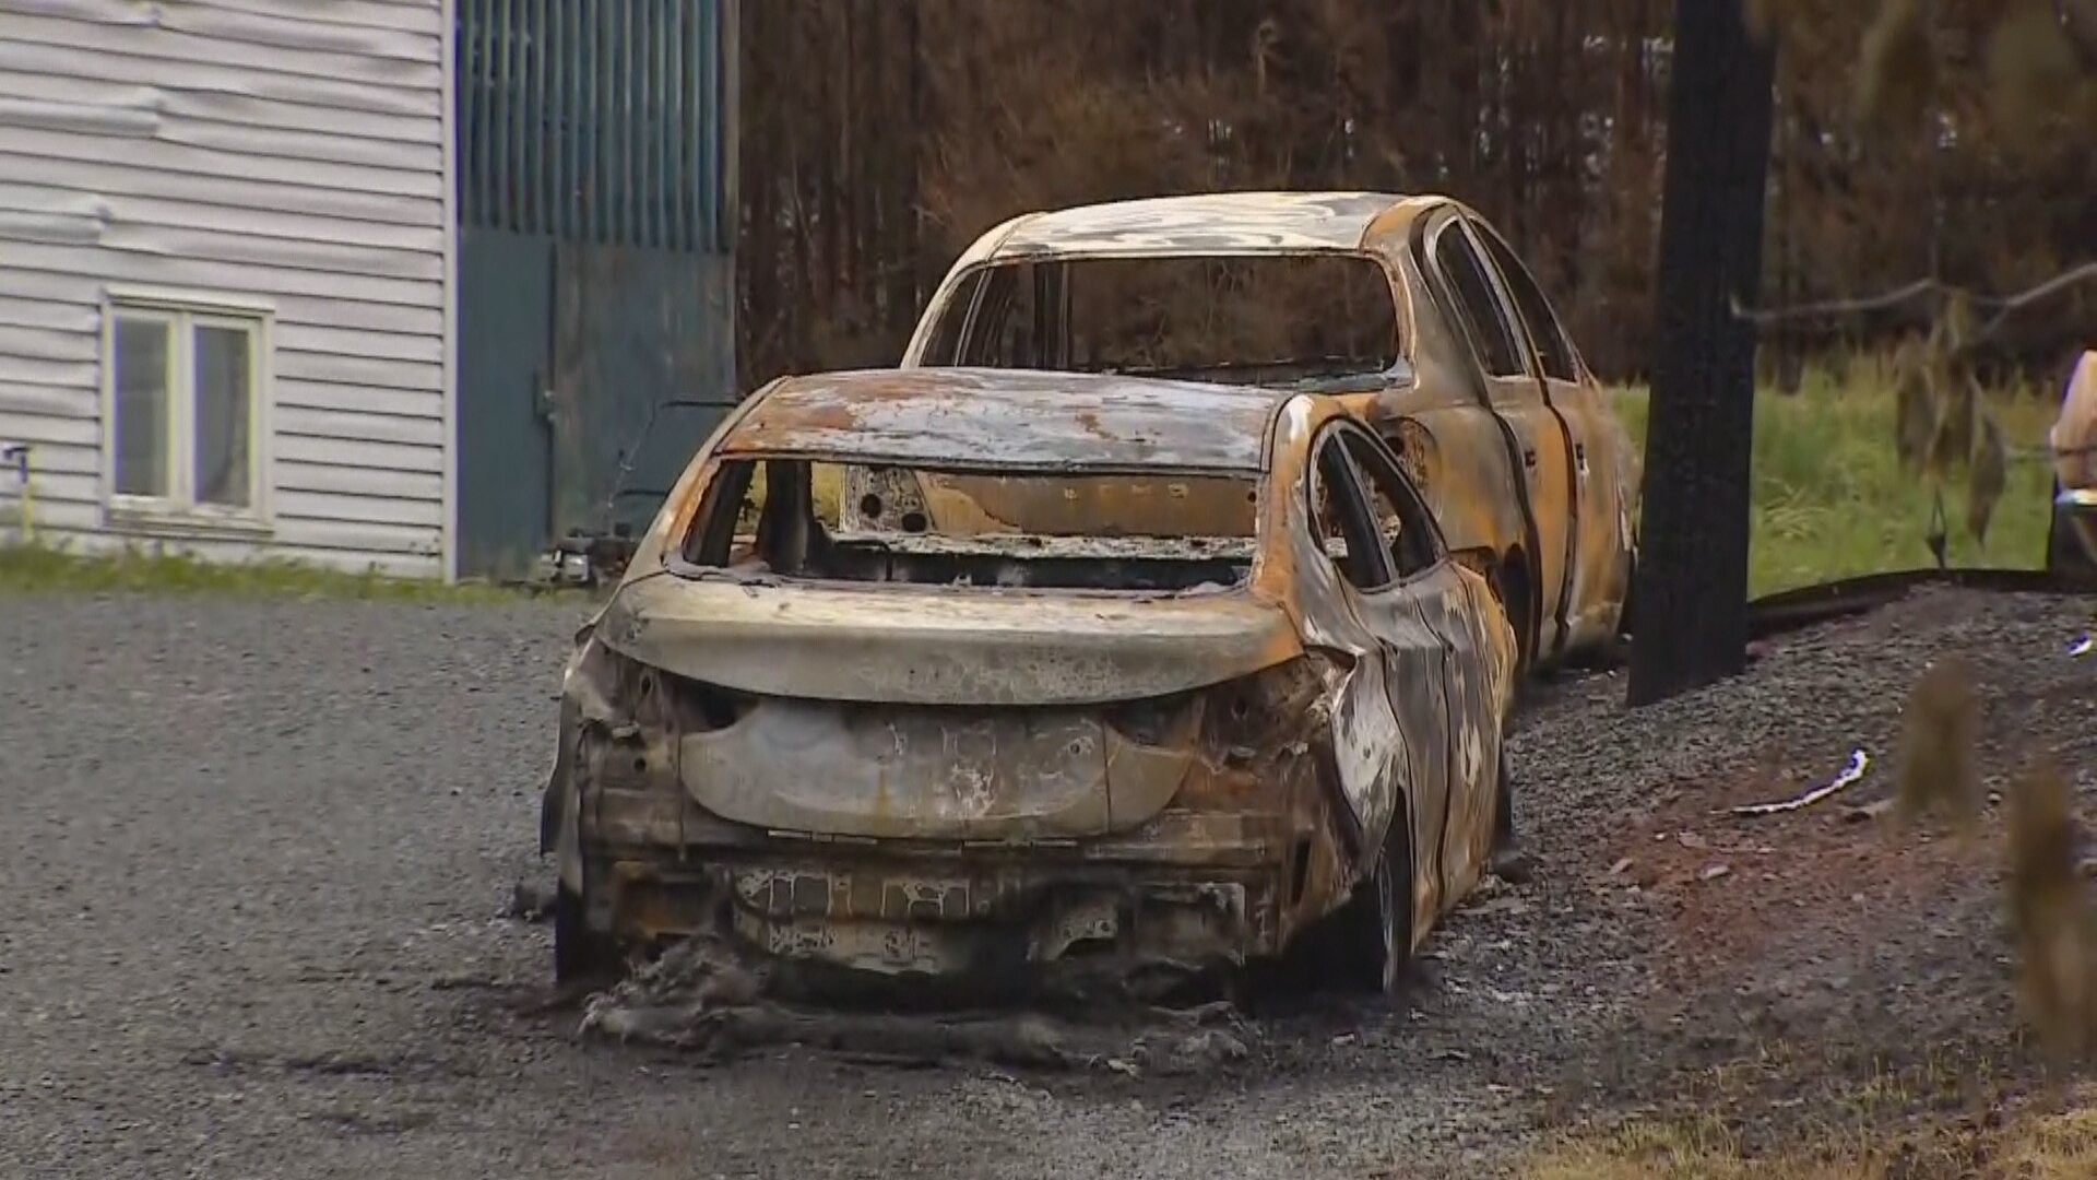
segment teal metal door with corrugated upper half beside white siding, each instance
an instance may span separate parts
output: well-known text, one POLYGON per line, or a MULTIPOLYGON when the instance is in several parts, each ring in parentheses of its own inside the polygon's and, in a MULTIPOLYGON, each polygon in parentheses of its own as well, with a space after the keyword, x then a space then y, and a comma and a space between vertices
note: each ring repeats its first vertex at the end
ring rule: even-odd
POLYGON ((463 571, 637 531, 734 403, 732 126, 734 0, 459 0, 463 571))

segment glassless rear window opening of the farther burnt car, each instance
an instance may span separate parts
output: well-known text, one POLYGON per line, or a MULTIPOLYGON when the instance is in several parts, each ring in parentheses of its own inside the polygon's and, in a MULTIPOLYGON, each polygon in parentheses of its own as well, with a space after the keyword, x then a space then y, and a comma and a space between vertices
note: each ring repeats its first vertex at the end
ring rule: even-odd
POLYGON ((1000 262, 954 290, 923 363, 1315 388, 1397 372, 1397 323, 1359 254, 1000 262))

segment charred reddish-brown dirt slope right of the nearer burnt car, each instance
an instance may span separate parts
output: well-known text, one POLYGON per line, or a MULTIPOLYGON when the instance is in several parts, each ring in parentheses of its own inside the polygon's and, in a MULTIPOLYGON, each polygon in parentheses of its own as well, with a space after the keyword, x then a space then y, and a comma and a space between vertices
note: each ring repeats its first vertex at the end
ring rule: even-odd
POLYGON ((2001 792, 2036 756, 2082 771, 2082 792, 2097 785, 2097 663, 2066 653, 2087 613, 2063 598, 1917 594, 1787 636, 1747 676, 1655 710, 1619 712, 1594 682, 1545 701, 1535 737, 1566 771, 1642 768, 1560 777, 1539 836, 1545 863, 1613 915, 1602 945, 1644 941, 1619 1039, 1566 1071, 1545 1117, 1715 1119, 1736 1144, 1778 1151, 1984 1130, 2057 1096, 2068 1071, 2034 1052, 2015 1002, 2001 792), (1908 689, 1946 657, 1971 663, 1980 697, 1971 838, 1887 810, 1908 689), (1822 783, 1854 750, 1871 768, 1839 796, 1728 813, 1822 783))

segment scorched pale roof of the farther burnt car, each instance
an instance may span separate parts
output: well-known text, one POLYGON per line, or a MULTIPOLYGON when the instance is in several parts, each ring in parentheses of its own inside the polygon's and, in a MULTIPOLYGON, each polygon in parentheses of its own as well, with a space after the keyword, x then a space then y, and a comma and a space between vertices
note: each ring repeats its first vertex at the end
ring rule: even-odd
POLYGON ((1023 254, 1285 254, 1361 250, 1395 193, 1199 193, 1015 218, 992 258, 1023 254))

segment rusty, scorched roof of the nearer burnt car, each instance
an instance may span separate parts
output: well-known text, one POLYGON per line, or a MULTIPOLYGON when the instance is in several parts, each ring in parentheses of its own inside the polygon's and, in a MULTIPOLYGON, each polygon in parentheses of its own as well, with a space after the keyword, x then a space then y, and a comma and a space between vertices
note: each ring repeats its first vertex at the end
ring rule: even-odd
POLYGON ((1116 374, 856 370, 780 378, 717 445, 954 470, 1256 475, 1290 393, 1116 374))

